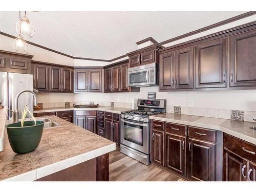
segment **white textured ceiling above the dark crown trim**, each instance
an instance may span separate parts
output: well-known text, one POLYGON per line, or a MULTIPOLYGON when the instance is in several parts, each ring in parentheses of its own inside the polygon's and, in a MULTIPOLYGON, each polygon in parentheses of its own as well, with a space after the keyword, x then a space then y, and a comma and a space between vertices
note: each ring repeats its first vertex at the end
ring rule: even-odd
MULTIPOLYGON (((112 59, 240 15, 241 11, 39 11, 27 12, 36 32, 30 41, 75 57, 112 59)), ((0 31, 16 36, 17 11, 0 12, 0 31)))

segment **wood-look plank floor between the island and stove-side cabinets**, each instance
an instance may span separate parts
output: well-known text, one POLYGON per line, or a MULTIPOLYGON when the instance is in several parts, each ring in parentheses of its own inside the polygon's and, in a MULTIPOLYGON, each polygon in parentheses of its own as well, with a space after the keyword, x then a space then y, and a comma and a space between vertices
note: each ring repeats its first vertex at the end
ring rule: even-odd
POLYGON ((145 165, 115 150, 110 153, 110 181, 183 181, 154 166, 145 165))

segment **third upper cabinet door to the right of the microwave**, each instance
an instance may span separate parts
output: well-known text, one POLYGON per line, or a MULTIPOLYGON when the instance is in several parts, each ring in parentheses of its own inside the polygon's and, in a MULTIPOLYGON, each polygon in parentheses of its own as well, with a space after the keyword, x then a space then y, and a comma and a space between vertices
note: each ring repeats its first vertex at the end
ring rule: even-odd
POLYGON ((195 88, 227 87, 227 39, 195 46, 195 88))

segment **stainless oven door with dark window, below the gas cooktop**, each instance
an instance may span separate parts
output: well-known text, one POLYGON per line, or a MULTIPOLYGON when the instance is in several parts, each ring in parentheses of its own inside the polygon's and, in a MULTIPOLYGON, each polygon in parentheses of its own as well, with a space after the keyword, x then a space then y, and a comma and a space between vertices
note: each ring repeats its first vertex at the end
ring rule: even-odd
POLYGON ((121 118, 121 143, 145 154, 150 153, 150 124, 121 118))

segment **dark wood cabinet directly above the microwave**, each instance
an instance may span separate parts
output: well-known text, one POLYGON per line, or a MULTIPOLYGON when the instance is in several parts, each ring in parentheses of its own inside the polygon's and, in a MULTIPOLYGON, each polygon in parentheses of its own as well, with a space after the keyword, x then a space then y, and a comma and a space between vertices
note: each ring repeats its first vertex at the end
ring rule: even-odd
POLYGON ((129 56, 129 67, 137 67, 148 63, 158 62, 157 50, 162 48, 163 46, 159 44, 154 44, 152 46, 148 46, 140 50, 127 53, 127 55, 129 56))

